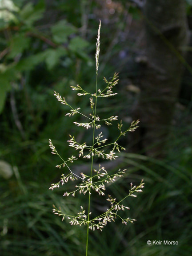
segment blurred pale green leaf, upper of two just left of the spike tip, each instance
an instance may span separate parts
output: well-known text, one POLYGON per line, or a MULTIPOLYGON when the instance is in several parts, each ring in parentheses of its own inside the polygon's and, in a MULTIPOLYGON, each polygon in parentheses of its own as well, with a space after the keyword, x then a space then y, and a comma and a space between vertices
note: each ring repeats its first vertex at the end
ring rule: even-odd
POLYGON ((51 28, 53 39, 56 43, 65 43, 68 40, 68 36, 75 33, 77 28, 71 24, 67 24, 66 20, 60 20, 51 28))

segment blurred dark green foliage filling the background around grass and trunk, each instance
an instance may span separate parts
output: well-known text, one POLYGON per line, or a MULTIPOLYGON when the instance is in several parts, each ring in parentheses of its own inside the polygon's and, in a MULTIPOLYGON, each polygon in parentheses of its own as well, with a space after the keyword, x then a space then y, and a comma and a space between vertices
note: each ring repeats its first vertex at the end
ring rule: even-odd
MULTIPOLYGON (((150 2, 150 0, 148 0, 150 2)), ((160 1, 159 1, 160 3, 160 1)), ((172 3, 174 4, 174 2, 172 3)), ((185 5, 187 32, 192 29, 192 1, 185 5)), ((73 227, 52 214, 52 204, 65 212, 77 212, 86 204, 82 197, 63 198, 70 187, 48 188, 60 179, 58 164, 48 148, 51 138, 65 159, 68 134, 79 141, 91 140, 91 132, 74 127, 79 116, 65 118, 68 109, 59 104, 53 91, 64 95, 74 108, 89 112, 89 103, 70 89, 80 84, 95 88, 95 50, 99 20, 102 22, 100 84, 120 72, 118 96, 99 104, 98 115, 118 115, 128 127, 142 91, 146 39, 142 0, 0 0, 0 254, 2 256, 84 255, 85 229, 73 227), (114 107, 115 106, 115 107, 114 107)), ((104 231, 91 232, 90 256, 188 256, 192 245, 192 72, 190 52, 185 46, 184 69, 174 114, 167 125, 163 147, 157 133, 140 147, 131 133, 122 144, 127 151, 108 167, 127 168, 123 181, 108 187, 122 198, 131 182, 145 181, 144 192, 128 200, 128 215, 134 225, 108 224, 104 231), (154 154, 151 154, 151 152, 154 154), (150 153, 149 153, 150 152, 150 153), (175 246, 148 246, 147 240, 178 241, 175 246)), ((152 47, 152 46, 151 46, 152 47)), ((178 71, 180 72, 180 71, 178 71)), ((156 86, 156 81, 154 86, 156 86)), ((160 99, 154 95, 156 101, 160 99)), ((151 105, 153 108, 153 105, 151 105)), ((142 126, 142 116, 140 117, 142 126)), ((144 121, 143 121, 144 123, 144 121)), ((116 127, 103 127, 110 140, 116 127)), ((161 139, 162 141, 162 139, 161 139)), ((85 168, 82 162, 80 168, 85 168)), ((76 168, 76 167, 75 167, 76 168)), ((105 207, 97 197, 93 211, 105 207)))

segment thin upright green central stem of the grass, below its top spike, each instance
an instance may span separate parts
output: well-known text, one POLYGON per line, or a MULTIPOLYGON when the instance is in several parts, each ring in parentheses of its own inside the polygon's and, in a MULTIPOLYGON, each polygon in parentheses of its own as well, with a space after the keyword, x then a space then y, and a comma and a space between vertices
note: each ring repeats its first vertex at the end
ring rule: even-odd
MULTIPOLYGON (((92 153, 94 149, 94 140, 95 140, 95 122, 96 122, 96 104, 97 104, 97 72, 96 72, 96 102, 95 102, 95 110, 94 110, 94 124, 93 124, 93 140, 92 140, 92 153)), ((93 169, 93 154, 92 154, 92 164, 91 164, 91 176, 92 179, 92 169, 93 169)), ((88 197, 88 226, 87 226, 87 239, 86 239, 86 253, 85 256, 88 256, 88 236, 89 236, 89 213, 90 213, 90 205, 91 205, 91 192, 89 191, 88 197)))

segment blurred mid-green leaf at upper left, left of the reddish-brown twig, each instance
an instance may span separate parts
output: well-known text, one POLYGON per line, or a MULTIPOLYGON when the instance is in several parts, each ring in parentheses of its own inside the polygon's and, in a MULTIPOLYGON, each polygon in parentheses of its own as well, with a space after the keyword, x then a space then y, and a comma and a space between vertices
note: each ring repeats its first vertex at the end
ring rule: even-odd
POLYGON ((23 33, 16 34, 12 37, 10 42, 10 53, 9 58, 15 58, 18 54, 22 53, 29 47, 31 39, 26 37, 23 33))

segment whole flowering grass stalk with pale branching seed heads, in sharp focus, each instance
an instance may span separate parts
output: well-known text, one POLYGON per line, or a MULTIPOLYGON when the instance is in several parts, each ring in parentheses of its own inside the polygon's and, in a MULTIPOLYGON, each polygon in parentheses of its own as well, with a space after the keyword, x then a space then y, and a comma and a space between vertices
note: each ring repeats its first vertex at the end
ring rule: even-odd
POLYGON ((122 121, 117 125, 117 136, 114 139, 114 142, 107 144, 107 139, 104 138, 102 132, 99 133, 98 136, 95 137, 96 129, 100 129, 101 124, 112 125, 112 122, 118 120, 118 116, 110 116, 106 119, 100 119, 100 117, 96 114, 97 100, 100 100, 102 97, 111 97, 115 96, 116 93, 113 93, 112 89, 118 83, 118 73, 115 73, 112 79, 107 80, 104 77, 104 82, 106 83, 104 89, 98 88, 97 79, 98 79, 98 69, 99 69, 99 53, 100 53, 100 28, 101 22, 99 24, 97 41, 96 41, 96 90, 95 92, 87 92, 80 85, 71 86, 72 90, 78 91, 78 96, 89 96, 91 113, 89 116, 86 116, 80 108, 73 108, 71 105, 67 103, 64 97, 60 96, 59 93, 54 92, 54 96, 56 99, 60 101, 61 104, 66 105, 70 108, 70 112, 66 114, 66 116, 74 116, 76 114, 84 116, 85 122, 79 123, 74 122, 77 126, 82 126, 86 129, 92 129, 92 144, 88 145, 86 142, 78 143, 74 136, 69 135, 68 144, 69 147, 74 148, 78 151, 78 157, 86 158, 90 160, 90 172, 89 173, 81 173, 77 175, 76 172, 73 172, 72 168, 69 167, 68 163, 73 163, 78 160, 78 157, 71 156, 68 160, 64 160, 59 153, 57 152, 55 146, 52 144, 52 141, 49 139, 49 146, 52 150, 52 154, 59 156, 61 163, 56 165, 57 168, 65 168, 65 174, 62 174, 61 179, 58 183, 52 184, 49 189, 58 188, 61 185, 64 185, 68 181, 79 180, 79 183, 74 185, 74 188, 70 192, 65 192, 64 196, 75 196, 76 193, 80 193, 81 195, 88 196, 88 208, 84 208, 80 206, 79 212, 76 216, 72 216, 62 212, 60 209, 57 209, 55 206, 53 208, 53 212, 62 216, 62 220, 67 218, 71 225, 86 225, 87 226, 87 238, 86 238, 86 251, 85 255, 88 256, 88 237, 89 230, 99 229, 102 231, 104 226, 108 222, 115 221, 116 218, 120 218, 123 224, 127 224, 128 222, 133 223, 135 220, 128 218, 123 218, 120 216, 120 211, 128 210, 128 206, 124 206, 123 201, 128 196, 136 197, 136 192, 142 192, 142 188, 144 188, 144 182, 141 180, 138 186, 133 186, 131 183, 130 190, 124 198, 121 200, 116 200, 112 196, 108 195, 106 199, 110 204, 108 209, 100 214, 99 216, 93 217, 91 215, 91 201, 92 201, 92 191, 97 192, 100 196, 105 195, 105 186, 108 183, 115 182, 116 179, 122 177, 126 171, 126 169, 119 169, 115 174, 110 174, 108 170, 102 164, 99 165, 99 168, 96 170, 93 168, 93 163, 96 158, 102 158, 105 160, 115 160, 118 156, 117 152, 125 150, 118 141, 121 136, 125 136, 127 132, 133 132, 138 127, 137 124, 139 120, 133 121, 131 126, 123 131, 122 121), (108 150, 108 148, 111 148, 108 150))

